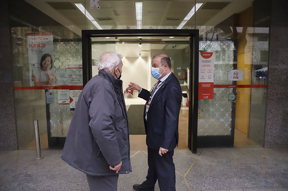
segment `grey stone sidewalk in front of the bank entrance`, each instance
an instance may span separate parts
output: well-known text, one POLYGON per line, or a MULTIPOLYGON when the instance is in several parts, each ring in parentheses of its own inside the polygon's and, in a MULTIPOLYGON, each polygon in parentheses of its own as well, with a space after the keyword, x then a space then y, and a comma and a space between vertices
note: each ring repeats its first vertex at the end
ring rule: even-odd
MULTIPOLYGON (((86 175, 60 159, 62 150, 0 151, 0 190, 89 190, 86 175)), ((131 151, 133 172, 118 190, 132 191, 147 173, 147 151, 131 151)), ((288 190, 288 148, 175 150, 176 189, 288 190)), ((155 190, 160 190, 156 183, 155 190)))

